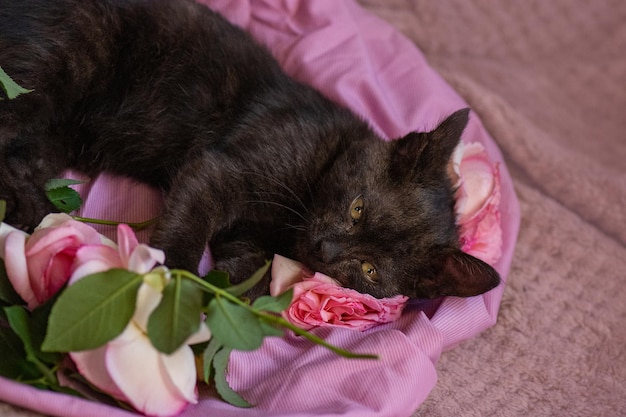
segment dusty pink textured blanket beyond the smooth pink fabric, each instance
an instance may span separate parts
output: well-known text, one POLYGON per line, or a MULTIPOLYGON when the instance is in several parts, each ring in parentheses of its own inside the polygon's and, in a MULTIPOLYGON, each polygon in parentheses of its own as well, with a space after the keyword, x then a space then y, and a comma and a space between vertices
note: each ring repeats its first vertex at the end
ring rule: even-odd
POLYGON ((414 414, 626 412, 626 3, 362 0, 503 151, 522 223, 498 323, 414 414))

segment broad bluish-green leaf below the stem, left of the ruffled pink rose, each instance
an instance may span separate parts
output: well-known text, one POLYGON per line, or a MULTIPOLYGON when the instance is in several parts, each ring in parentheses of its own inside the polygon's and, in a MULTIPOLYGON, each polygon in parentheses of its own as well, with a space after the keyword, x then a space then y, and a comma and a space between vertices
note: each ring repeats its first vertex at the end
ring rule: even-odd
POLYGON ((226 347, 254 350, 263 343, 259 319, 246 307, 223 297, 215 297, 209 303, 206 323, 211 335, 226 347))

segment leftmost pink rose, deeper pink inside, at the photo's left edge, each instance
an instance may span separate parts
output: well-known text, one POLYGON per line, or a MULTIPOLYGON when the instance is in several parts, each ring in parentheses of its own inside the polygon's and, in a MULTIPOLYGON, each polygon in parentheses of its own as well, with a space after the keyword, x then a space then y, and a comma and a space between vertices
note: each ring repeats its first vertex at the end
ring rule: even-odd
POLYGON ((46 216, 31 236, 5 224, 3 227, 8 231, 0 240, 7 275, 31 309, 66 284, 81 246, 106 241, 93 228, 66 214, 46 216))

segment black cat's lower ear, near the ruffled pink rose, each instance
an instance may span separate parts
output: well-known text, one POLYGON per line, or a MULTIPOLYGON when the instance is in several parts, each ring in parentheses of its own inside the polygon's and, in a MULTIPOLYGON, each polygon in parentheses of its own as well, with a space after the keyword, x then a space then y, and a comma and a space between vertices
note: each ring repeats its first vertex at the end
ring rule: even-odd
POLYGON ((443 250, 433 259, 433 267, 433 280, 418 285, 422 296, 429 298, 445 295, 473 297, 500 283, 500 275, 491 265, 457 248, 443 250))

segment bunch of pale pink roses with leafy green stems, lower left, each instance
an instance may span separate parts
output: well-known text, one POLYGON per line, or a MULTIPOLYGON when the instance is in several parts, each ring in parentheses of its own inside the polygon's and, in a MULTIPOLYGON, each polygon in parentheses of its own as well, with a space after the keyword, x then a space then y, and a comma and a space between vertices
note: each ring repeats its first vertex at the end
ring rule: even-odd
POLYGON ((248 406, 226 383, 229 353, 256 349, 281 328, 347 357, 371 357, 277 315, 292 290, 252 304, 240 298, 269 263, 233 286, 217 271, 168 269, 163 252, 140 244, 128 225, 118 226, 117 242, 67 214, 46 216, 32 235, 0 225, 0 375, 85 393, 77 379, 145 414, 174 415, 196 401, 198 360, 201 379, 248 406))

